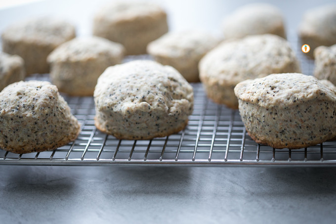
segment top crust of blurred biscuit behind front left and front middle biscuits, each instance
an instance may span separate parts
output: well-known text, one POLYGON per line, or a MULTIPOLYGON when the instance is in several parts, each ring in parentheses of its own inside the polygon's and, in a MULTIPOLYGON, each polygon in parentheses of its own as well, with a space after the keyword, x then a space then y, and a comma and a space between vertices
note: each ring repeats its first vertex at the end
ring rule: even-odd
POLYGON ((99 57, 119 57, 124 52, 125 47, 123 45, 104 38, 75 38, 58 46, 49 54, 47 61, 71 62, 99 57))

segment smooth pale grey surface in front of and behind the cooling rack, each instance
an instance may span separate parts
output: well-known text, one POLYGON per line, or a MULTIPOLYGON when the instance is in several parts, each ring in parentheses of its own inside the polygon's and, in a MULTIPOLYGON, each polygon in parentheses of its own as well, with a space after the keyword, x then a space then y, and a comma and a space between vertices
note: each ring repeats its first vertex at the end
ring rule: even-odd
MULTIPOLYGON (((221 19, 247 0, 161 0, 171 30, 220 34, 221 19)), ((295 35, 316 1, 269 1, 295 35)), ((0 10, 0 31, 55 14, 91 33, 103 0, 50 0, 0 10)), ((335 223, 336 168, 0 166, 0 223, 335 223)))

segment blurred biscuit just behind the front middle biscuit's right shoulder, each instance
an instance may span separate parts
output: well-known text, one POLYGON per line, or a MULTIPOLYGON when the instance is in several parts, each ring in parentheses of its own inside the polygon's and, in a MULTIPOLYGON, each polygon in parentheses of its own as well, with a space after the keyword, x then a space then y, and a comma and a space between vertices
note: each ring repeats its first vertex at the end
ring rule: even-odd
POLYGON ((198 63, 218 43, 206 32, 174 32, 151 42, 147 52, 161 64, 174 67, 188 82, 199 82, 198 63))

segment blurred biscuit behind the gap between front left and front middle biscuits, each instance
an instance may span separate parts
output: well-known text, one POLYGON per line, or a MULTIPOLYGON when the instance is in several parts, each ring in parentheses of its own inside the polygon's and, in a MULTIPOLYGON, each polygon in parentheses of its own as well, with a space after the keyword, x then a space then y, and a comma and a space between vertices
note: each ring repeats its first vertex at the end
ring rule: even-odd
POLYGON ((58 46, 47 61, 50 79, 58 90, 70 95, 93 95, 104 70, 122 63, 123 45, 104 38, 76 38, 58 46))

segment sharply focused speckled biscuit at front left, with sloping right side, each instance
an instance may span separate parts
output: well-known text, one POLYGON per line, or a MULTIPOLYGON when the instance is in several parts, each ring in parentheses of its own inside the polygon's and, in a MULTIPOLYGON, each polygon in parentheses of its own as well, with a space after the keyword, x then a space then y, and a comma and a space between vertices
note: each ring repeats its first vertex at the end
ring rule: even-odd
POLYGON ((57 87, 18 82, 0 92, 0 148, 13 153, 52 150, 74 141, 77 119, 57 87))

